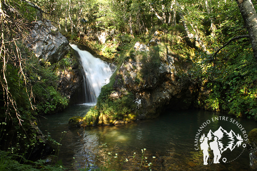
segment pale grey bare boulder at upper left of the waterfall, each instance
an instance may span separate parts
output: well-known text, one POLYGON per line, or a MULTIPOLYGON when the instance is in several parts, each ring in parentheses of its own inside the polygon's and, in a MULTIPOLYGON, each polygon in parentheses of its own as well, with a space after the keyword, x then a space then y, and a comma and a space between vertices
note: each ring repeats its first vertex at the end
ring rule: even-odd
POLYGON ((33 50, 38 59, 55 63, 67 54, 69 42, 48 20, 38 21, 31 31, 27 46, 33 50))

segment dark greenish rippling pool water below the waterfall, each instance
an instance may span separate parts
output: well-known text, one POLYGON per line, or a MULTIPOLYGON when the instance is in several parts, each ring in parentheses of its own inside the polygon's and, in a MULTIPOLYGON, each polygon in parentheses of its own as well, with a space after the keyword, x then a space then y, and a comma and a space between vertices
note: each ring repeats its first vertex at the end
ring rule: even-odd
MULTIPOLYGON (((86 154, 89 152, 90 163, 105 166, 103 161, 108 159, 107 153, 112 153, 112 159, 116 153, 118 154, 118 157, 111 161, 110 168, 114 170, 120 170, 120 168, 121 170, 133 170, 133 168, 137 170, 141 163, 141 149, 144 148, 146 148, 145 157, 148 157, 146 163, 152 162, 152 156, 156 157, 152 162, 152 170, 249 170, 249 154, 246 149, 238 159, 230 163, 223 163, 221 158, 220 164, 207 166, 203 165, 202 151, 194 150, 194 137, 200 125, 215 116, 227 117, 228 115, 203 110, 166 111, 158 118, 126 125, 68 128, 68 119, 72 116, 83 116, 89 107, 87 105, 72 106, 63 113, 40 119, 41 130, 50 132, 52 138, 57 141, 60 139, 61 132, 67 131, 61 141, 59 160, 61 159, 68 167, 72 163, 76 166, 73 167, 75 169, 85 167, 84 148, 79 133, 83 137, 86 154), (134 152, 136 154, 133 159, 134 152), (123 162, 126 158, 129 162, 123 162)), ((236 120, 243 125, 247 134, 257 126, 253 121, 236 120)), ((236 126, 232 125, 232 128, 228 122, 215 123, 207 125, 206 130, 217 130, 220 126, 227 131, 236 129, 236 126)), ((241 152, 242 148, 236 147, 227 155, 236 156, 241 152)), ((213 156, 210 157, 211 160, 213 156)), ((144 161, 145 159, 143 164, 144 161)), ((149 170, 149 167, 144 167, 144 170, 149 170)))

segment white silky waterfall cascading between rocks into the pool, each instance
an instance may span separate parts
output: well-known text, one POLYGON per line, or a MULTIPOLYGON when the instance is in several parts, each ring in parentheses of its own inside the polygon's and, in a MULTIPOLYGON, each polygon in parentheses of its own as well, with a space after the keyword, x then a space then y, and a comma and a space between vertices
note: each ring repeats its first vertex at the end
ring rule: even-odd
POLYGON ((109 83, 114 71, 106 62, 94 57, 91 53, 80 50, 76 45, 70 44, 70 46, 80 55, 86 76, 84 77, 84 103, 96 103, 101 87, 109 83))

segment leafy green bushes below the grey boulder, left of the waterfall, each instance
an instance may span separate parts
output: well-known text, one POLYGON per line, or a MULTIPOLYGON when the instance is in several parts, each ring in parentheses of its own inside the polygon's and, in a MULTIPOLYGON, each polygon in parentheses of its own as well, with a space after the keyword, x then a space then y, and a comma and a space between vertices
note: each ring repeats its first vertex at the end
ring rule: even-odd
MULTIPOLYGON (((65 60, 61 62, 64 63, 63 65, 69 65, 65 60)), ((44 61, 42 63, 43 66, 37 64, 37 59, 31 59, 26 67, 26 74, 29 76, 28 84, 34 93, 34 105, 41 113, 62 110, 68 105, 68 99, 57 90, 57 75, 50 66, 44 64, 44 61)))

